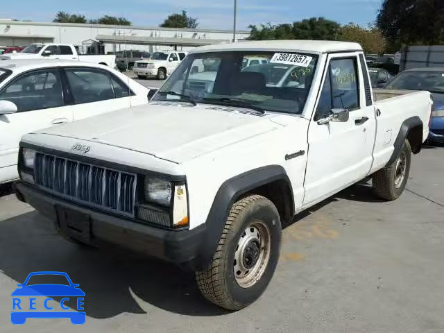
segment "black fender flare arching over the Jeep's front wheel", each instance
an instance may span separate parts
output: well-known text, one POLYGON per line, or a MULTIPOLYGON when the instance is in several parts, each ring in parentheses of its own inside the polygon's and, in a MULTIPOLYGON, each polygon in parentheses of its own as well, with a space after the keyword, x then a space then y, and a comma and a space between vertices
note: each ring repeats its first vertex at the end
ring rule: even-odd
POLYGON ((205 221, 205 237, 199 250, 200 266, 207 266, 214 253, 216 253, 225 221, 234 201, 243 194, 276 180, 287 182, 290 189, 291 208, 293 209, 294 198, 291 182, 287 172, 280 165, 269 165, 253 169, 223 182, 214 197, 212 207, 205 221))

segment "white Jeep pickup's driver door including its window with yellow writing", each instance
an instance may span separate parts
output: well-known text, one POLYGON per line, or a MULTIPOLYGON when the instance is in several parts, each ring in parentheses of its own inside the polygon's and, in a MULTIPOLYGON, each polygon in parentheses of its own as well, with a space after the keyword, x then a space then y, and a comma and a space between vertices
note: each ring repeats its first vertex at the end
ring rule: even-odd
POLYGON ((375 110, 367 106, 362 74, 358 53, 327 58, 323 88, 309 126, 304 206, 332 196, 370 171, 375 110), (332 109, 347 109, 348 121, 319 124, 332 109))

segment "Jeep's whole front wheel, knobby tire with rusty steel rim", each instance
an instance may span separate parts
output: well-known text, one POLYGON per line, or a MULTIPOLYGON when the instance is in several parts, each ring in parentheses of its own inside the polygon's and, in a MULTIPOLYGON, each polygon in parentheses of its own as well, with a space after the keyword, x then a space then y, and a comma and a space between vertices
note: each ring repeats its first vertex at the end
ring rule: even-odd
POLYGON ((265 291, 278 264, 281 223, 264 196, 238 200, 231 208, 212 261, 196 272, 200 292, 228 310, 253 303, 265 291))

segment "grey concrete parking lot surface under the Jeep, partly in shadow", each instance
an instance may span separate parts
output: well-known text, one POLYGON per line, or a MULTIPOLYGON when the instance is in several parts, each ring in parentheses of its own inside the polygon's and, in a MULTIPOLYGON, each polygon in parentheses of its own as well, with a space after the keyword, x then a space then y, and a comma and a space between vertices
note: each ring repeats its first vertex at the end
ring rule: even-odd
POLYGON ((399 200, 355 185, 297 216, 262 298, 232 313, 206 302, 192 273, 71 244, 3 193, 0 332, 444 332, 443 161, 444 148, 414 156, 399 200), (33 271, 64 271, 80 284, 85 325, 10 323, 10 293, 33 271))

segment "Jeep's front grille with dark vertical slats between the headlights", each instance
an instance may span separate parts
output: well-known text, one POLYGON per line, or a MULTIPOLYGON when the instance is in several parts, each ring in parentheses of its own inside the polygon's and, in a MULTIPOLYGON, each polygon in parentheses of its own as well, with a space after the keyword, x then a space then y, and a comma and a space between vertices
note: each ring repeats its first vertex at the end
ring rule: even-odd
POLYGON ((59 196, 134 216, 136 175, 36 153, 35 183, 59 196))

